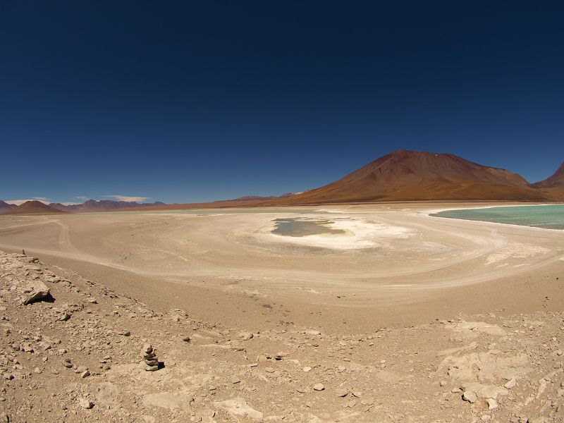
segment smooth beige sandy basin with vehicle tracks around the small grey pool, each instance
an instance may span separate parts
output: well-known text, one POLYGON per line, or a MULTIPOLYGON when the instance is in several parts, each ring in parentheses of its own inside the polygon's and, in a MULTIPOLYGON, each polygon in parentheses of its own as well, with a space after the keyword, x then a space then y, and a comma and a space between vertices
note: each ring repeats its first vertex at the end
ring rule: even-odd
POLYGON ((331 207, 330 214, 326 207, 303 214, 302 207, 6 216, 0 248, 24 248, 149 303, 188 308, 210 321, 257 319, 257 327, 283 319, 354 332, 458 312, 532 311, 548 294, 553 304, 564 303, 563 293, 550 289, 564 266, 563 231, 426 214, 452 207, 465 204, 355 205, 331 207), (329 216, 348 235, 269 233, 274 219, 295 216, 329 216), (285 311, 274 317, 264 304, 285 311), (343 319, 350 322, 344 328, 343 319))

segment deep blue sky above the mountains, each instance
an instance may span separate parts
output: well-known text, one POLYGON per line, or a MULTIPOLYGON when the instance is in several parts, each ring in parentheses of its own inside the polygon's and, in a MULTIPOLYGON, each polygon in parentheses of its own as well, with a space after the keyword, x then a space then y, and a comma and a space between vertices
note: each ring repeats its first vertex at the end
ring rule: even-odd
POLYGON ((0 198, 278 195, 400 148, 544 179, 562 5, 0 0, 0 198))

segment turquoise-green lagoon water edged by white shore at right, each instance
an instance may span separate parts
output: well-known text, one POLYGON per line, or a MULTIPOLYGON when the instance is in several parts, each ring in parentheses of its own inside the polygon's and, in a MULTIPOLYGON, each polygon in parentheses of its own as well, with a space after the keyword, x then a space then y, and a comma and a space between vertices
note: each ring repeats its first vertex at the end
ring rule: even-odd
POLYGON ((489 207, 488 209, 447 210, 431 216, 448 217, 544 229, 564 229, 564 204, 544 206, 489 207))

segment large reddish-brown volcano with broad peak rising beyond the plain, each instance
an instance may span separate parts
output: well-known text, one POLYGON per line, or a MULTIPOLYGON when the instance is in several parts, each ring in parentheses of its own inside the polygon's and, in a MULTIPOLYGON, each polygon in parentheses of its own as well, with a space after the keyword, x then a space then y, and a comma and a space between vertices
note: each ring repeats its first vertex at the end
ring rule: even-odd
POLYGON ((454 154, 398 150, 336 182, 276 204, 397 200, 546 200, 527 180, 454 154))

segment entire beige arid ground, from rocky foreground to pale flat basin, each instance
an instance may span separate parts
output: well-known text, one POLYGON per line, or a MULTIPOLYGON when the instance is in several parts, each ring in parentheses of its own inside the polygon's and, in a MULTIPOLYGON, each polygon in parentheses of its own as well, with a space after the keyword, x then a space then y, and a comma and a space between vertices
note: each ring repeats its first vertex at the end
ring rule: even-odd
POLYGON ((1 417, 562 422, 564 233, 468 205, 0 216, 1 417))

